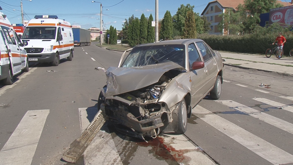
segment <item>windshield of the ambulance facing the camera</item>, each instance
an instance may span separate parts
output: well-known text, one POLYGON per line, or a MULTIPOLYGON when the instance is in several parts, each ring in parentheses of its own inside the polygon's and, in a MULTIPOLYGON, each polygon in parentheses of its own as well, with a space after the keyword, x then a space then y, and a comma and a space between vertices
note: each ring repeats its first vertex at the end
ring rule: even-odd
POLYGON ((26 27, 21 39, 55 39, 56 27, 26 27))

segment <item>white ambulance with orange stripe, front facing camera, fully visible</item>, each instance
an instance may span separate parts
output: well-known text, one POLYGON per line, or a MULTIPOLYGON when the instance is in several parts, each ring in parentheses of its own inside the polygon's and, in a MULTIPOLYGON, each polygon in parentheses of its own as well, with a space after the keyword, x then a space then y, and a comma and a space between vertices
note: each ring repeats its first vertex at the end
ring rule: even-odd
POLYGON ((60 59, 71 61, 73 58, 71 25, 57 16, 35 16, 28 22, 21 39, 28 42, 24 49, 29 61, 51 62, 58 66, 60 59))

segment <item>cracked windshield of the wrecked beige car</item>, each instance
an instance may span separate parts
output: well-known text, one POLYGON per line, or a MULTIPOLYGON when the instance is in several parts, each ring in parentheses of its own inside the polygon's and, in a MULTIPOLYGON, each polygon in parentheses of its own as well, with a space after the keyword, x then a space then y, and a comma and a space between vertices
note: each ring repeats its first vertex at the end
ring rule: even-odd
POLYGON ((135 47, 125 59, 122 67, 139 67, 170 61, 185 67, 184 45, 170 44, 135 47))

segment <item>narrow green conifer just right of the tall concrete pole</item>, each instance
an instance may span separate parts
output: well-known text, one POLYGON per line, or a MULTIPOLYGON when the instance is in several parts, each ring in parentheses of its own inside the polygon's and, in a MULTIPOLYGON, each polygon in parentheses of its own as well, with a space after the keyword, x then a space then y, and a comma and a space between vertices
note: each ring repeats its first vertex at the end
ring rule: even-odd
POLYGON ((172 40, 173 35, 173 23, 170 11, 166 11, 162 20, 161 35, 160 38, 163 40, 172 40))

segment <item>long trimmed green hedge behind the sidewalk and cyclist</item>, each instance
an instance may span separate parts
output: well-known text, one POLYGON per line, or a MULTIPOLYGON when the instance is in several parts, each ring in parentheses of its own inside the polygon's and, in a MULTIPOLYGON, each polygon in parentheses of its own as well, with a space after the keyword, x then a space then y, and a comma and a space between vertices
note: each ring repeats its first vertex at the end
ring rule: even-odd
MULTIPOLYGON (((289 51, 293 48, 292 33, 283 33, 286 38, 283 50, 284 55, 289 56, 289 51)), ((197 38, 204 40, 212 49, 219 51, 239 52, 239 53, 260 53, 265 54, 265 50, 270 48, 277 38, 277 33, 265 35, 208 35, 200 34, 197 38)))

